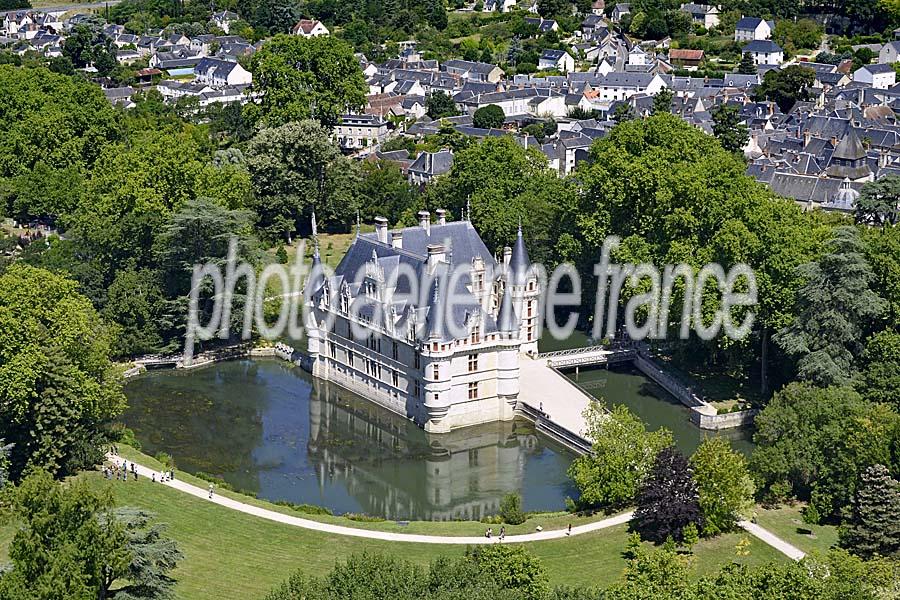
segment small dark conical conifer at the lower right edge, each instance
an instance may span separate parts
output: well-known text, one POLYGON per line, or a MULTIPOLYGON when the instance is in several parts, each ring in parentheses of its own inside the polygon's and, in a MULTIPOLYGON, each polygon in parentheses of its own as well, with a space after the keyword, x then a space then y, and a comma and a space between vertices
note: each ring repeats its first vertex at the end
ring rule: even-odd
POLYGON ((900 482, 884 465, 862 472, 841 546, 863 558, 900 554, 900 482))

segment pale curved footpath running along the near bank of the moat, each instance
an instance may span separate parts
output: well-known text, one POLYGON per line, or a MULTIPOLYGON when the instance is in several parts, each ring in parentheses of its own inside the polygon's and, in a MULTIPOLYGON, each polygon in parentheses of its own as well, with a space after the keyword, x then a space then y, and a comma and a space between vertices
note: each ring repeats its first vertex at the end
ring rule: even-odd
MULTIPOLYGON (((129 461, 117 455, 109 455, 108 458, 109 460, 114 461, 117 464, 122 464, 123 461, 128 462, 129 469, 130 465, 132 464, 132 461, 129 461)), ((141 477, 150 479, 154 474, 159 474, 159 471, 150 469, 138 463, 134 463, 134 465, 137 469, 138 475, 140 475, 141 477)), ((312 529, 314 531, 321 531, 323 533, 333 533, 335 535, 349 535, 354 537, 368 538, 371 540, 382 540, 385 542, 416 542, 420 544, 475 545, 493 544, 499 543, 500 541, 497 537, 486 538, 483 536, 422 535, 413 533, 391 533, 388 531, 376 531, 372 529, 357 529, 355 527, 345 527, 343 525, 321 523, 319 521, 312 521, 310 519, 304 519, 302 517, 286 515, 280 512, 275 512, 273 510, 261 508, 259 506, 253 506, 252 504, 245 504, 244 502, 232 500, 231 498, 219 495, 217 493, 214 493, 212 499, 210 499, 209 490, 197 487, 179 479, 175 479, 173 481, 165 481, 160 483, 160 485, 167 485, 180 492, 184 492, 185 494, 200 498, 205 502, 212 502, 213 504, 218 504, 219 506, 224 506, 225 508, 230 508, 231 510, 236 510, 248 515, 267 519, 269 521, 275 521, 276 523, 283 523, 285 525, 291 525, 293 527, 312 529)), ((616 525, 622 525, 630 521, 633 514, 634 513, 632 512, 626 512, 606 519, 602 519, 600 521, 594 521, 585 525, 572 527, 571 536, 582 535, 585 533, 590 533, 592 531, 598 531, 600 529, 607 529, 609 527, 615 527, 616 525)), ((763 529, 759 525, 750 523, 749 521, 741 521, 739 525, 747 530, 747 532, 751 535, 758 537, 763 542, 769 544, 779 552, 782 552, 783 554, 794 560, 800 560, 805 556, 804 552, 788 544, 784 540, 763 529)), ((540 542, 544 540, 555 540, 571 536, 567 533, 566 529, 551 529, 547 531, 537 531, 535 533, 508 535, 506 536, 504 541, 508 543, 540 542)))

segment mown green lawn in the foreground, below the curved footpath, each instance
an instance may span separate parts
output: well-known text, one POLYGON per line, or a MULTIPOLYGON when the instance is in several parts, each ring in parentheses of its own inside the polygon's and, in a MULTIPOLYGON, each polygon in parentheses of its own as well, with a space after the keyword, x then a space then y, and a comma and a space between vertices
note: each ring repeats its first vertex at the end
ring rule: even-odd
MULTIPOLYGON (((185 600, 213 598, 262 598, 294 570, 321 575, 335 561, 350 554, 387 552, 400 559, 425 565, 438 556, 459 556, 460 546, 392 543, 335 536, 279 523, 204 502, 142 478, 128 483, 107 482, 99 473, 87 473, 96 485, 111 485, 119 505, 153 511, 168 525, 185 555, 175 577, 177 592, 185 600)), ((271 508, 271 505, 269 506, 271 508)), ((362 524, 360 524, 362 525, 362 524)), ((435 533, 449 524, 422 524, 435 533)), ((12 536, 10 526, 0 528, 0 557, 12 536)), ((591 534, 528 544, 539 556, 553 584, 606 586, 621 574, 621 556, 627 539, 624 526, 591 534), (577 568, 574 566, 577 565, 577 568)), ((786 560, 761 542, 751 539, 750 556, 737 559, 734 546, 742 536, 731 534, 704 541, 695 547, 695 572, 709 573, 740 560, 759 564, 786 560)))

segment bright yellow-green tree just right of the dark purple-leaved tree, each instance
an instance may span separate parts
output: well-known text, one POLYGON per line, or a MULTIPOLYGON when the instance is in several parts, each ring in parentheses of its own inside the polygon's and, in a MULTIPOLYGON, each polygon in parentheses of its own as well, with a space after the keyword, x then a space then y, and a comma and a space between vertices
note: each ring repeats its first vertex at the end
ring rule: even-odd
POLYGON ((727 440, 711 437, 703 440, 691 456, 697 482, 705 535, 718 535, 734 529, 738 519, 753 506, 753 480, 744 457, 727 440))

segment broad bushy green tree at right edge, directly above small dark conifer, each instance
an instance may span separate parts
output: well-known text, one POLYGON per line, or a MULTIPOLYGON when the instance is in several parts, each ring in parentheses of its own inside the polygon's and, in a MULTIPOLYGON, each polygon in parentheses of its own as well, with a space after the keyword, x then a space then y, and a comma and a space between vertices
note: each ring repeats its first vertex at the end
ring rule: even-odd
POLYGON ((764 491, 787 482, 827 520, 850 504, 863 470, 893 464, 898 427, 900 415, 852 389, 792 383, 756 417, 751 472, 764 491))

